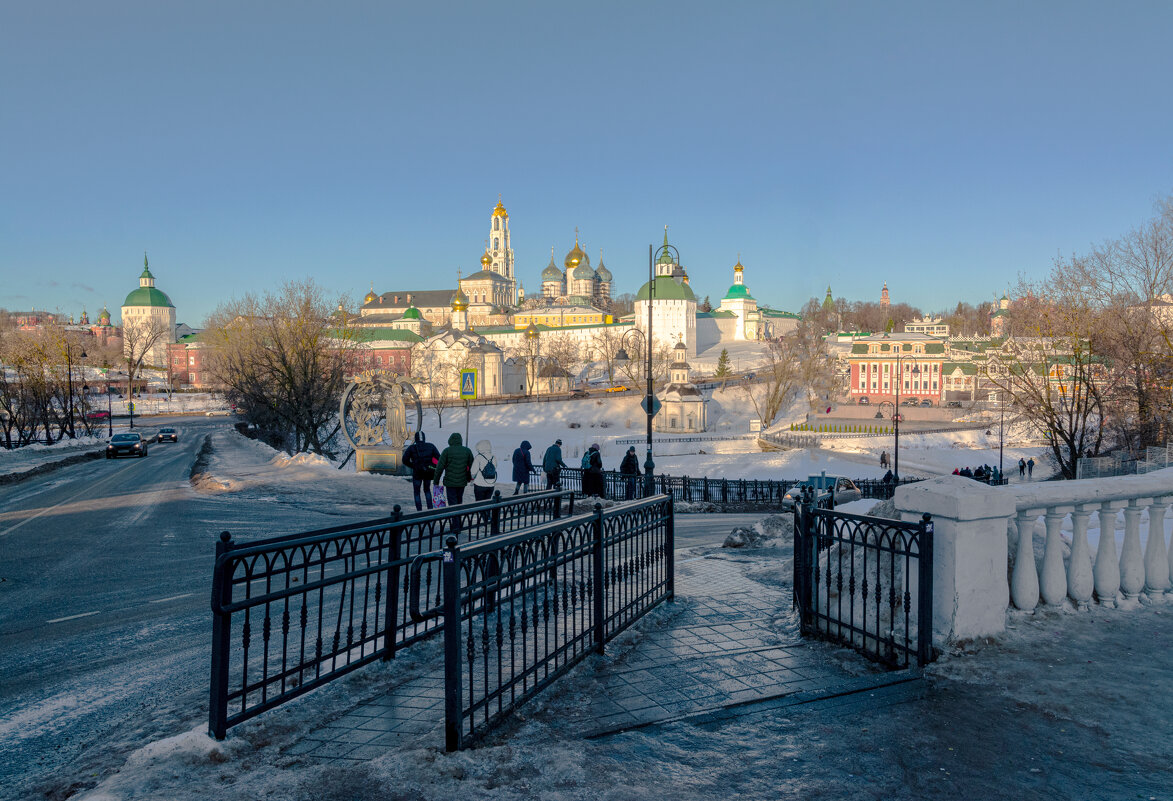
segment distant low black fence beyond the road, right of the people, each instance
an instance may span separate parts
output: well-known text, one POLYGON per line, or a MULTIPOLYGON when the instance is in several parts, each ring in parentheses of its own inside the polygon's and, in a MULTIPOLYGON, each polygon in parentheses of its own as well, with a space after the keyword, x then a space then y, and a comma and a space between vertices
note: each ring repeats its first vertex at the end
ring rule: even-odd
MULTIPOLYGON (((689 476, 655 476, 656 494, 667 495, 673 501, 686 503, 733 503, 748 507, 777 508, 781 505, 787 490, 806 483, 806 478, 690 478, 689 476)), ((887 501, 901 484, 923 481, 920 477, 901 478, 899 482, 884 482, 880 478, 854 478, 865 498, 887 501)), ((583 495, 583 469, 564 468, 561 473, 562 487, 583 495)), ((603 471, 603 486, 606 497, 616 501, 638 500, 645 495, 643 475, 623 475, 615 470, 603 471)))

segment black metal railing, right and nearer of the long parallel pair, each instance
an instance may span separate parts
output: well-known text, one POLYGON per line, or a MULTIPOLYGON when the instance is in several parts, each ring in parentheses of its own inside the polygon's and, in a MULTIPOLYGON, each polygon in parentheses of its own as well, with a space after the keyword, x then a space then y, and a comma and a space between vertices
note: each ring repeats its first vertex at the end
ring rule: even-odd
MULTIPOLYGON (((445 741, 468 745, 674 590, 655 496, 442 554, 445 741)), ((422 611, 422 610, 421 610, 422 611)))

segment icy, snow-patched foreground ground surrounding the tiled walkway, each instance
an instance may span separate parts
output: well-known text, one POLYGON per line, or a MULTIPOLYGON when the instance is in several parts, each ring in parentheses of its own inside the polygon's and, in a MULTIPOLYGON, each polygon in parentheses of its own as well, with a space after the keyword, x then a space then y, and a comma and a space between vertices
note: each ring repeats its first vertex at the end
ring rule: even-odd
MULTIPOLYGON (((771 549, 743 565, 757 581, 786 575, 771 549)), ((150 744, 83 797, 1168 799, 1171 612, 1012 613, 1003 636, 942 654, 924 697, 896 705, 750 706, 724 721, 583 740, 564 711, 589 695, 605 664, 592 659, 459 754, 442 752, 439 733, 353 765, 286 753, 311 727, 439 659, 439 643, 428 642, 262 715, 225 742, 196 728, 150 744)), ((778 613, 786 629, 788 609, 778 613)), ((669 619, 660 610, 642 625, 669 619)))

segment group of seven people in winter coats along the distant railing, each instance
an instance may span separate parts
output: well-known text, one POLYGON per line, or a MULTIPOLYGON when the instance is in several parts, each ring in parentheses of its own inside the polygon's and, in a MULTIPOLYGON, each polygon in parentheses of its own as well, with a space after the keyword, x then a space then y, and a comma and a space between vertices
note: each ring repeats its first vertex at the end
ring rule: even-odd
MULTIPOLYGON (((540 475, 534 467, 533 449, 534 446, 529 440, 522 440, 522 443, 514 449, 511 460, 514 495, 528 493, 531 478, 540 475)), ((448 437, 448 447, 441 452, 428 442, 423 432, 416 432, 412 444, 404 450, 402 462, 404 467, 412 470, 412 495, 415 498, 415 509, 419 511, 422 511, 425 505, 433 509, 435 505, 450 507, 463 503, 465 489, 469 484, 473 486, 473 498, 486 501, 493 497, 497 486, 496 457, 493 454, 493 443, 488 440, 481 440, 469 449, 460 434, 452 434, 448 437), (436 497, 441 487, 443 501, 436 497)), ((562 470, 565 468, 567 463, 562 460, 562 440, 555 440, 542 456, 541 471, 545 474, 545 489, 562 486, 562 470)), ((583 454, 582 470, 583 495, 605 498, 606 481, 598 443, 592 444, 583 454)), ((628 448, 628 453, 623 456, 619 474, 624 481, 625 500, 631 501, 636 497, 639 478, 639 457, 636 456, 635 446, 628 448)))

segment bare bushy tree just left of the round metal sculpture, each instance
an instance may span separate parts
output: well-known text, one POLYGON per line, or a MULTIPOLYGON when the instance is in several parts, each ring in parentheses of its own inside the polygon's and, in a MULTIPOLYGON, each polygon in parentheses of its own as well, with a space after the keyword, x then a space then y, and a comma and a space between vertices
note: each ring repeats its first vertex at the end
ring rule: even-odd
POLYGON ((355 347, 341 299, 311 280, 245 296, 208 320, 211 371, 245 419, 289 453, 333 455, 338 403, 355 347))

